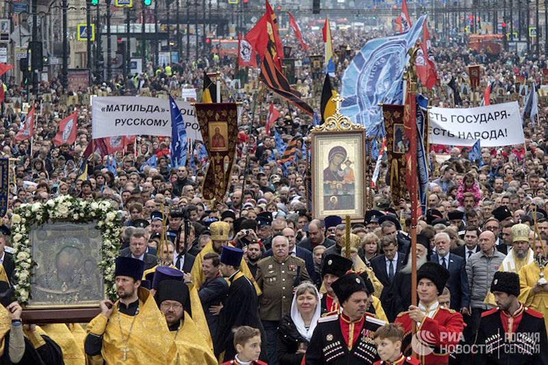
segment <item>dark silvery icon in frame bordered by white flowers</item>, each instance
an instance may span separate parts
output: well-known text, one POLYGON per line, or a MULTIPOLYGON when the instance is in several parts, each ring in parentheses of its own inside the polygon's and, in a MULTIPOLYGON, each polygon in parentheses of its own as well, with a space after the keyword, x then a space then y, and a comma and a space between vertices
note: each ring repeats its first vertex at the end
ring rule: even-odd
POLYGON ((115 299, 120 227, 121 216, 109 201, 61 196, 22 204, 12 215, 10 239, 23 316, 74 322, 70 310, 79 310, 77 318, 93 318, 99 301, 115 299))

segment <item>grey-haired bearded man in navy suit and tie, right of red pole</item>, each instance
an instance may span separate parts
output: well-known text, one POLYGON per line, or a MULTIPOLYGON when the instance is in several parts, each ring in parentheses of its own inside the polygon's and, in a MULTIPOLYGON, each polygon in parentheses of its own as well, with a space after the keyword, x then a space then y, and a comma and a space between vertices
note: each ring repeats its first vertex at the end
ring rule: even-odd
POLYGON ((451 309, 460 311, 462 314, 469 314, 470 290, 466 276, 466 262, 462 257, 449 252, 451 238, 445 232, 434 236, 434 244, 436 253, 430 257, 430 261, 437 262, 449 270, 447 286, 451 292, 451 309))

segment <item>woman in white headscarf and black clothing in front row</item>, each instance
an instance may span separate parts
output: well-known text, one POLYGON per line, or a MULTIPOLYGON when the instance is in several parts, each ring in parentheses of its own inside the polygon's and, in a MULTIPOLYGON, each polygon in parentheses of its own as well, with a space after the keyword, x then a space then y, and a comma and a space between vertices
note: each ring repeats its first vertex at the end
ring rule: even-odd
POLYGON ((316 287, 308 281, 297 286, 291 312, 282 318, 278 327, 279 365, 301 364, 320 316, 320 294, 316 287))

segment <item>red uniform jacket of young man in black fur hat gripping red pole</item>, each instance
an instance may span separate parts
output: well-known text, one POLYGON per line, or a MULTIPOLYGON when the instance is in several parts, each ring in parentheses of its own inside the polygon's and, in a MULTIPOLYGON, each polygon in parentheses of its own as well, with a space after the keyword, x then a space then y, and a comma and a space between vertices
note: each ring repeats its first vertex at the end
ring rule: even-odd
POLYGON ((406 354, 411 353, 411 344, 418 353, 423 365, 447 364, 449 353, 447 349, 456 346, 462 336, 464 320, 462 314, 443 307, 438 307, 432 318, 426 317, 417 327, 415 340, 412 342, 413 320, 409 312, 398 314, 395 323, 403 326, 404 336, 402 348, 406 354))

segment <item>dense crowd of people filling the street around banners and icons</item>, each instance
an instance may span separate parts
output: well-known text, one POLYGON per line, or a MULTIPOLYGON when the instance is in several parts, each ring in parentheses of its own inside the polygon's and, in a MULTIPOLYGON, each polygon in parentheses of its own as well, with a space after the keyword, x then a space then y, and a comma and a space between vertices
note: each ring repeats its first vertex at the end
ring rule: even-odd
MULTIPOLYGON (((289 36, 284 43, 300 60, 295 78, 303 99, 318 110, 323 75, 308 55, 322 54, 323 42, 310 27, 303 32, 310 50, 289 36)), ((390 32, 381 27, 364 38, 334 29, 334 44, 357 51, 390 32)), ((431 105, 456 106, 455 92, 463 108, 479 105, 483 90, 469 86, 470 64, 482 64, 491 103, 523 105, 532 83, 543 84, 545 55, 486 55, 431 37, 439 81, 422 90, 431 105), (518 76, 524 84, 516 84, 518 76), (457 88, 447 85, 451 79, 457 88)), ((336 57, 338 85, 351 55, 336 57)), ((472 162, 466 147, 429 146, 413 301, 411 205, 391 201, 386 156, 363 222, 347 227, 341 216, 312 216, 311 118, 269 93, 233 89, 234 70, 234 59, 204 56, 150 64, 142 75, 87 90, 42 81, 31 95, 32 140, 16 138, 25 88, 14 78, 5 82, 1 153, 14 168, 0 229, 3 364, 548 364, 548 284, 540 280, 548 276, 545 105, 536 125, 524 121, 525 144, 484 147, 481 162, 472 162), (223 201, 201 196, 208 158, 196 141, 184 166, 171 166, 169 138, 151 136, 82 160, 91 139, 90 95, 166 98, 182 86, 201 89, 204 71, 220 71, 223 99, 242 102, 223 201), (271 103, 280 116, 267 131, 271 103), (77 140, 55 146, 58 123, 73 108, 77 140), (301 138, 286 168, 277 163, 274 131, 286 143, 301 138), (63 195, 106 199, 123 217, 118 300, 101 301, 101 314, 84 325, 22 325, 21 306, 11 300, 10 285, 20 279, 11 217, 22 204, 63 195)), ((249 80, 258 79, 249 69, 249 80)))

